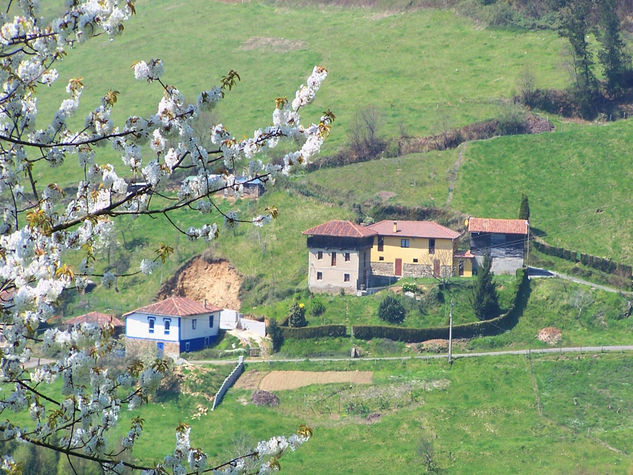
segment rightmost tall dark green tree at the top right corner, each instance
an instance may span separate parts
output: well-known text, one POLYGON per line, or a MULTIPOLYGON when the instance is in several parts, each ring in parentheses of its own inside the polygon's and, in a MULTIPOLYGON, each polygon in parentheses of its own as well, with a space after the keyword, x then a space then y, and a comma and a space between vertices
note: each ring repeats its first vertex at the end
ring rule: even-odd
POLYGON ((620 19, 616 12, 615 0, 600 0, 598 17, 598 40, 602 50, 598 59, 607 78, 609 93, 617 93, 623 86, 624 75, 631 69, 631 57, 625 51, 622 41, 620 19))

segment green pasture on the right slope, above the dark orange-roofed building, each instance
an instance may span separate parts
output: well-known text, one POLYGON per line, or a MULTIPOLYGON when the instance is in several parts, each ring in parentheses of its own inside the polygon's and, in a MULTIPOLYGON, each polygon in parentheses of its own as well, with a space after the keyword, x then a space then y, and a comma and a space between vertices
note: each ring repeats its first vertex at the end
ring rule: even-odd
POLYGON ((453 207, 514 218, 521 193, 550 244, 633 263, 631 120, 468 144, 453 207))

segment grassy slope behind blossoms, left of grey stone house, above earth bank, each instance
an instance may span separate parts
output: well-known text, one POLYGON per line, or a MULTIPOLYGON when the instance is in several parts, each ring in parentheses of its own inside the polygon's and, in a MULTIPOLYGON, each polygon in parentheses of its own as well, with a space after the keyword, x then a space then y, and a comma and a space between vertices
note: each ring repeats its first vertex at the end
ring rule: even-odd
MULTIPOLYGON (((226 208, 229 203, 220 200, 226 208)), ((67 307, 66 316, 77 315, 87 310, 124 313, 153 301, 160 284, 189 258, 207 249, 212 255, 230 259, 242 275, 250 276, 253 288, 252 299, 246 304, 255 304, 255 298, 266 300, 277 297, 279 292, 298 285, 307 285, 305 266, 307 248, 301 232, 329 219, 345 219, 350 212, 336 206, 324 206, 305 197, 297 197, 285 191, 268 192, 260 200, 240 200, 235 203, 243 216, 263 213, 267 206, 277 206, 279 217, 263 228, 245 224, 235 230, 224 229, 222 220, 216 215, 205 216, 193 211, 174 213, 172 218, 182 228, 201 226, 214 220, 220 226, 218 240, 211 243, 189 241, 164 219, 140 217, 123 219, 116 228, 115 244, 110 260, 107 252, 98 256, 97 270, 110 263, 122 266, 119 272, 134 272, 142 258, 154 258, 155 250, 166 243, 174 248, 174 254, 152 275, 137 275, 122 278, 116 291, 100 285, 90 293, 75 295, 67 307)))

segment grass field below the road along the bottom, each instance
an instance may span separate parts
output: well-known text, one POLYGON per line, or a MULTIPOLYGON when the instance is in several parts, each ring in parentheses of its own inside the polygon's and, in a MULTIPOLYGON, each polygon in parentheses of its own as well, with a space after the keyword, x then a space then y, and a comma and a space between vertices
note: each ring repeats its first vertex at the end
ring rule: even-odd
MULTIPOLYGON (((199 420, 190 397, 150 404, 139 413, 152 437, 141 438, 136 456, 149 461, 173 449, 179 422, 192 425, 192 444, 215 460, 307 423, 314 438, 282 459, 287 473, 422 472, 423 440, 450 473, 623 473, 633 462, 626 355, 459 360, 452 369, 419 361, 288 368, 369 370, 373 385, 280 391, 277 408, 257 408, 250 391, 232 389, 199 420), (367 422, 375 413, 378 422, 367 422)), ((134 414, 124 415, 121 433, 134 414)))

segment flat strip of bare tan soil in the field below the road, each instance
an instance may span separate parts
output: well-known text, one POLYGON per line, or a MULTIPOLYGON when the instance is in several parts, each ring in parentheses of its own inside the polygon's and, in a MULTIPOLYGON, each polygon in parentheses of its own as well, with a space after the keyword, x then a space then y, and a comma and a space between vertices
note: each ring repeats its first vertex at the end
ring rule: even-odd
POLYGON ((259 389, 279 391, 310 384, 371 384, 372 371, 271 371, 259 383, 259 389))

